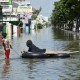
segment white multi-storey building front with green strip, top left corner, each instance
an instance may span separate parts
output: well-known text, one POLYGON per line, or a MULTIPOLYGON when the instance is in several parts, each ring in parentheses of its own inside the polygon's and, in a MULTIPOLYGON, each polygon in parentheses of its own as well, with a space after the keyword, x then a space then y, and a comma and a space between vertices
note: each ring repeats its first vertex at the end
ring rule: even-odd
POLYGON ((2 6, 2 13, 3 13, 3 21, 17 21, 17 14, 13 12, 13 7, 17 6, 18 4, 11 2, 10 0, 0 0, 0 4, 2 6))

